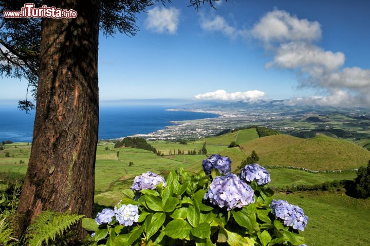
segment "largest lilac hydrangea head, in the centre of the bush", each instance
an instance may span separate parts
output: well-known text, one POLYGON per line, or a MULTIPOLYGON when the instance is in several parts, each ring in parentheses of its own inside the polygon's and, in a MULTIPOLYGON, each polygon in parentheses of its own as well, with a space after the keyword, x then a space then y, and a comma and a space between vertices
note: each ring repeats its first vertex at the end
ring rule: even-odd
POLYGON ((225 176, 218 176, 213 179, 205 194, 205 199, 220 208, 226 207, 229 211, 254 202, 254 192, 238 176, 227 173, 225 176))

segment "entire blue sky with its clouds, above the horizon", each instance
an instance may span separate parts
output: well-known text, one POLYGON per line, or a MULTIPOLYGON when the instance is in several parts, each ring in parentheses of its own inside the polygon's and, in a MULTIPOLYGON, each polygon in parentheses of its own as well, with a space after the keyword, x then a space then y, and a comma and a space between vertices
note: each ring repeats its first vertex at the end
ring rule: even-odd
MULTIPOLYGON (((369 1, 234 0, 199 13, 187 3, 138 15, 134 37, 101 34, 101 100, 370 104, 369 1)), ((1 84, 0 98, 23 99, 24 81, 1 84)))

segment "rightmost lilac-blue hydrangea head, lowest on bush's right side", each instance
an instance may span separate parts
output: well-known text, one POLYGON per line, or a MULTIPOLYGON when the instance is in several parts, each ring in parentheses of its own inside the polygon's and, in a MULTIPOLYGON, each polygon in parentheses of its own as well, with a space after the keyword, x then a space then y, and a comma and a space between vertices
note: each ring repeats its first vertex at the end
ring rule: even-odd
POLYGON ((304 231, 308 217, 300 207, 289 204, 286 200, 272 200, 270 209, 272 214, 282 219, 286 226, 304 231))

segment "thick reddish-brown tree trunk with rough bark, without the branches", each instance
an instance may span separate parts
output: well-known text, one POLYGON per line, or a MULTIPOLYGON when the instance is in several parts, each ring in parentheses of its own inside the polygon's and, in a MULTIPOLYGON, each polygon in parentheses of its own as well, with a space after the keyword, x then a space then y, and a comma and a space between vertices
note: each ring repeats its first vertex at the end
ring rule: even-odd
MULTIPOLYGON (((17 211, 20 233, 44 210, 93 213, 100 2, 81 2, 43 1, 78 16, 42 20, 33 143, 17 211)), ((77 232, 85 235, 81 226, 77 232)))

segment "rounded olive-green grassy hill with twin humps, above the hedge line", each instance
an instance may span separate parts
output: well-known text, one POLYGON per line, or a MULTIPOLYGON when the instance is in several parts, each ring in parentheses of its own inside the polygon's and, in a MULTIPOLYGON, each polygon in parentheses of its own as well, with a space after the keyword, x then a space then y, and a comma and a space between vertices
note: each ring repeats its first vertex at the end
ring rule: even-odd
POLYGON ((293 166, 311 170, 344 170, 365 166, 370 151, 327 136, 302 139, 275 135, 242 144, 245 154, 255 150, 265 166, 293 166))

